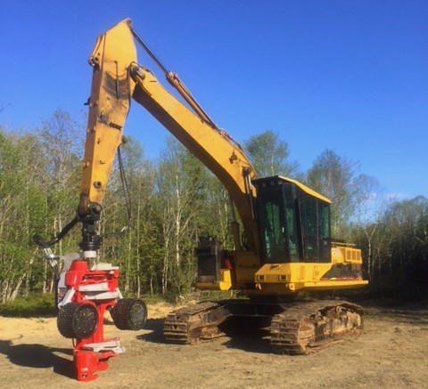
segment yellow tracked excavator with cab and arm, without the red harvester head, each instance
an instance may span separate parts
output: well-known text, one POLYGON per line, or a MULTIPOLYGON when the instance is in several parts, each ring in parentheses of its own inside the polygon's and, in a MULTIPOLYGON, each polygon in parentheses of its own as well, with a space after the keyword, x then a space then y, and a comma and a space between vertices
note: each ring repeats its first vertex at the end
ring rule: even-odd
POLYGON ((212 237, 200 239, 194 286, 240 291, 247 298, 171 312, 164 323, 166 340, 191 344, 221 336, 221 328, 233 317, 266 320, 276 353, 308 353, 319 344, 358 332, 363 315, 359 305, 336 300, 301 303, 291 298, 299 291, 367 284, 361 275, 361 251, 331 238, 330 200, 287 177, 257 177, 239 143, 216 126, 177 74, 163 66, 131 20, 120 21, 98 37, 89 63, 93 81, 78 215, 73 222, 82 223, 82 251, 93 253, 101 245, 96 223, 132 100, 218 177, 239 215, 232 212, 234 250, 223 250, 212 237), (135 41, 186 104, 137 63, 135 41))

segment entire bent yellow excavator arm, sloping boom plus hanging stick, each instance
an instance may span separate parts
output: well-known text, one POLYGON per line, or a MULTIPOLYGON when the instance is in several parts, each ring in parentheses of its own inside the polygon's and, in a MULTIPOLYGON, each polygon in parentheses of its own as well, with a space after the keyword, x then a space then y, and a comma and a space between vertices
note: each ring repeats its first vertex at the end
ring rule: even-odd
MULTIPOLYGON (((94 70, 79 214, 91 215, 94 205, 103 201, 132 98, 216 174, 240 215, 249 249, 258 251, 251 187, 255 173, 242 147, 213 123, 177 75, 168 72, 167 80, 193 110, 169 93, 152 71, 136 63, 133 34, 130 20, 119 22, 98 38, 89 58, 94 70)), ((235 233, 235 246, 240 244, 238 235, 235 233)))

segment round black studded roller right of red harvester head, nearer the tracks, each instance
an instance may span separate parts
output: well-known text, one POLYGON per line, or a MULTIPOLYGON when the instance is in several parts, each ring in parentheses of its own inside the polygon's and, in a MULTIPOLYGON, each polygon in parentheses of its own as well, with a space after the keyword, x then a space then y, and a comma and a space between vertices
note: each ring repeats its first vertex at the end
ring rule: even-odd
POLYGON ((147 307, 142 300, 122 298, 111 308, 110 314, 117 328, 137 330, 144 328, 147 307))

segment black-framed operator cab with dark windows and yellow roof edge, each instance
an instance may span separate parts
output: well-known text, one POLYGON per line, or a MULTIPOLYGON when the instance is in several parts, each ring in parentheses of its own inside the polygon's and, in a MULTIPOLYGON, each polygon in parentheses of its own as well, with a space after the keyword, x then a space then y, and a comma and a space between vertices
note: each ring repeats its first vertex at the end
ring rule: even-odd
POLYGON ((331 262, 330 200, 279 175, 252 183, 263 263, 331 262))

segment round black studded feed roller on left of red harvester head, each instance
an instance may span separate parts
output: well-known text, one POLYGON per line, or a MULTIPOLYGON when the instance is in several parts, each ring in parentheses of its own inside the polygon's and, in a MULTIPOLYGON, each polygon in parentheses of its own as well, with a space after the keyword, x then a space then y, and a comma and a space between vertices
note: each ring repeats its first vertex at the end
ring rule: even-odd
POLYGON ((98 327, 98 312, 93 304, 65 304, 58 312, 56 324, 62 336, 86 339, 98 327))

